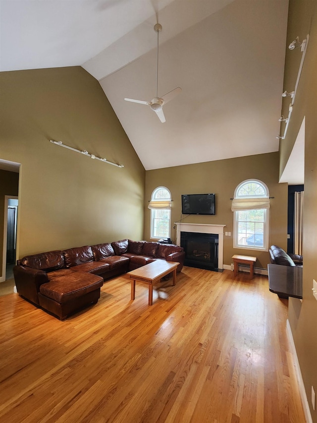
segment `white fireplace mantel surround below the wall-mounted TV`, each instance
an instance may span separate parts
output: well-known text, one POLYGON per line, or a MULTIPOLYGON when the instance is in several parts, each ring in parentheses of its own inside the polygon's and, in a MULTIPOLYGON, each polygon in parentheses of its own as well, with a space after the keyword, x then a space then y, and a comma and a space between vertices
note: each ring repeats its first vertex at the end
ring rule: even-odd
POLYGON ((223 269, 223 228, 226 225, 206 225, 203 223, 177 223, 176 244, 180 245, 181 232, 197 232, 200 234, 218 235, 218 269, 223 269))

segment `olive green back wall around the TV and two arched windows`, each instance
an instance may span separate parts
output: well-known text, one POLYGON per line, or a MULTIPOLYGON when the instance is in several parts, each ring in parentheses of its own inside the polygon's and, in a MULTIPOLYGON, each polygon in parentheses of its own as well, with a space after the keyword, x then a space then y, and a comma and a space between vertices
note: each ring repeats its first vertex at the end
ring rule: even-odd
MULTIPOLYGON (((233 213, 230 198, 236 186, 247 179, 263 181, 269 195, 275 197, 270 203, 270 239, 269 245, 287 246, 287 184, 278 183, 278 153, 259 154, 227 160, 177 166, 146 172, 145 199, 150 200, 152 191, 160 185, 166 186, 172 195, 172 231, 171 239, 176 241, 173 223, 184 218, 184 223, 204 223, 226 225, 225 232, 231 237, 224 237, 223 264, 230 265, 233 254, 255 255, 256 267, 267 268, 269 253, 233 248, 233 213), (215 216, 182 216, 182 194, 216 194, 215 216)), ((150 239, 150 210, 145 208, 145 238, 150 239)))

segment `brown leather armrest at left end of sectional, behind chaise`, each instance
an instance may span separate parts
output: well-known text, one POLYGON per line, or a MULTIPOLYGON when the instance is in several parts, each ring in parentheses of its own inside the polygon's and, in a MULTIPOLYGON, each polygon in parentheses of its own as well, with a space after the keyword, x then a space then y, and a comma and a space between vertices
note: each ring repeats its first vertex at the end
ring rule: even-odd
POLYGON ((13 275, 18 294, 39 304, 38 292, 42 284, 49 282, 48 274, 43 270, 17 265, 13 267, 13 275))

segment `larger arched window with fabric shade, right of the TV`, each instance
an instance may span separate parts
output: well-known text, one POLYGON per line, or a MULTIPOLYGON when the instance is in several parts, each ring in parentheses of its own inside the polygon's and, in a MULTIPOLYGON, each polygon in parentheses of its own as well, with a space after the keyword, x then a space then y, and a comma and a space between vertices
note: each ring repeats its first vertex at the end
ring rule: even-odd
POLYGON ((234 191, 233 247, 268 249, 268 188, 262 181, 241 182, 234 191))

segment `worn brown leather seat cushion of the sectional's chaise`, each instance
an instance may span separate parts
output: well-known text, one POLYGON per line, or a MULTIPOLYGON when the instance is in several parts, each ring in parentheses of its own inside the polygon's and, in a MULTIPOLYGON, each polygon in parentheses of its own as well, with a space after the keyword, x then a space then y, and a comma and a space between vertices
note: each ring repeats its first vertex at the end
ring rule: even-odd
POLYGON ((60 276, 41 285, 40 293, 56 302, 68 302, 101 288, 103 284, 101 276, 71 272, 68 276, 60 276))

